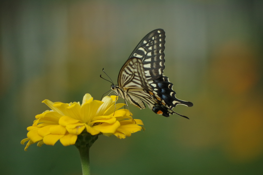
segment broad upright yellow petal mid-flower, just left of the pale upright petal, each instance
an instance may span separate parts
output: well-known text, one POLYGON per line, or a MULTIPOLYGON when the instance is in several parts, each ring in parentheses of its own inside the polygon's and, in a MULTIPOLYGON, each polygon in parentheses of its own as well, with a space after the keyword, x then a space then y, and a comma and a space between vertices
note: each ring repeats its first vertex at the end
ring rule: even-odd
POLYGON ((80 109, 80 114, 83 116, 83 123, 89 122, 103 103, 104 102, 98 100, 94 100, 90 103, 86 102, 80 109))

